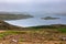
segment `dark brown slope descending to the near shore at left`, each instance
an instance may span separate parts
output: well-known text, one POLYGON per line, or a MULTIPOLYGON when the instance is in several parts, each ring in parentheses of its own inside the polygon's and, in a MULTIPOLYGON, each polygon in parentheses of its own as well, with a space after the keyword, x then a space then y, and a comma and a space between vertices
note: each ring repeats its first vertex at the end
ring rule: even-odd
POLYGON ((0 30, 22 30, 23 28, 11 25, 0 20, 0 30))

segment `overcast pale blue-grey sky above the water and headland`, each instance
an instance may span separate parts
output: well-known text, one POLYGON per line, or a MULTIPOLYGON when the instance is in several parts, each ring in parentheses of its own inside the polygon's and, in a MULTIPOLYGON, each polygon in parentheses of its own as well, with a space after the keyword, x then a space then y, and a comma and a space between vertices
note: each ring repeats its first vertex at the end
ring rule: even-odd
POLYGON ((66 11, 66 0, 0 0, 0 11, 66 11))

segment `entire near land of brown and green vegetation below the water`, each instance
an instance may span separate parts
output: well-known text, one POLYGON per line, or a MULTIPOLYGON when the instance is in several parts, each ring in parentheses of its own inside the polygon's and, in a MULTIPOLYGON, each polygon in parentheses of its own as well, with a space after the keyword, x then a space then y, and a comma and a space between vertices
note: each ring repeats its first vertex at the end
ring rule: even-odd
POLYGON ((0 44, 66 44, 66 25, 20 28, 0 21, 0 44))

